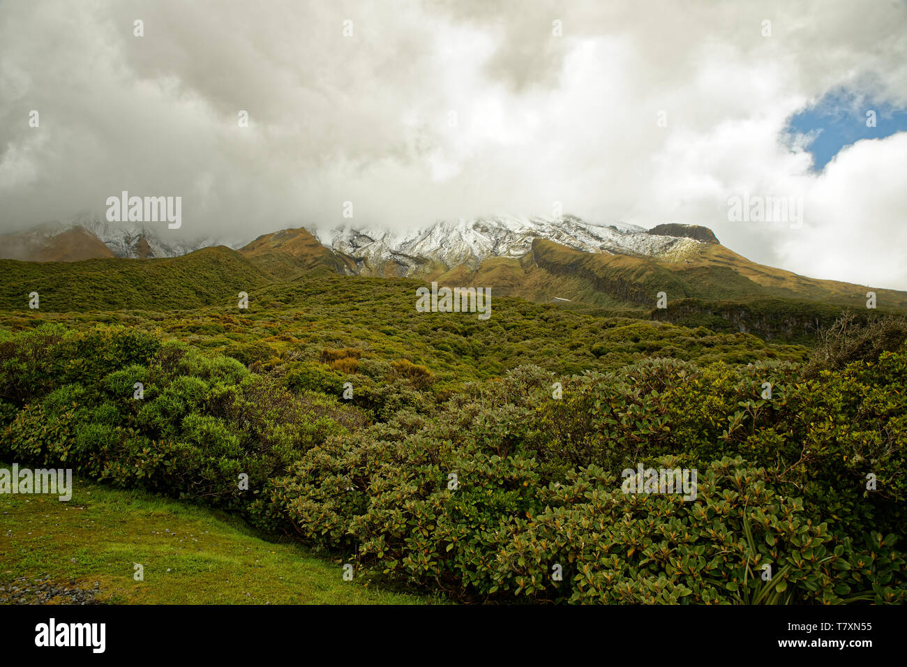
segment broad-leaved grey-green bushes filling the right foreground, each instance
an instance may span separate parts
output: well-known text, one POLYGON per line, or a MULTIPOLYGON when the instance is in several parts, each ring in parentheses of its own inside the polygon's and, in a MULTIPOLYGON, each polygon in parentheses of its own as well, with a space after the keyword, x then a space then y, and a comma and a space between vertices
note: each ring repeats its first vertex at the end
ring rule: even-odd
POLYGON ((817 380, 653 359, 560 400, 550 380, 519 368, 316 446, 261 508, 365 574, 476 602, 904 601, 904 354, 817 380), (698 469, 697 498, 623 493, 638 463, 698 469))

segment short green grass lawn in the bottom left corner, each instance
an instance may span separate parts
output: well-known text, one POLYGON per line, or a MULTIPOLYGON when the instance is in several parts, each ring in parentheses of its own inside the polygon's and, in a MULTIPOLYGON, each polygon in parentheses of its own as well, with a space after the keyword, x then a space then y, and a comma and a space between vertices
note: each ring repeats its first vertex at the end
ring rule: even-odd
POLYGON ((436 602, 344 581, 339 561, 270 543, 210 509, 83 479, 73 478, 73 487, 67 503, 0 495, 0 585, 41 574, 83 589, 99 582, 95 600, 106 603, 436 602), (136 563, 144 581, 133 580, 136 563))

